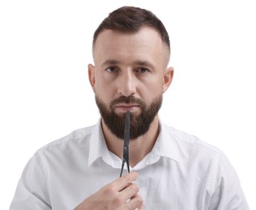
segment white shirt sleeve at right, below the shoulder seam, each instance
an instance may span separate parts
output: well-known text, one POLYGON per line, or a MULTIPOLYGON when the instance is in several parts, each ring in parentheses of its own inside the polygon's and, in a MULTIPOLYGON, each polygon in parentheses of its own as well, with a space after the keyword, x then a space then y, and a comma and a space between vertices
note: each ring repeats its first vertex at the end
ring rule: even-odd
POLYGON ((213 178, 213 194, 209 210, 249 210, 237 172, 220 153, 220 159, 213 178))

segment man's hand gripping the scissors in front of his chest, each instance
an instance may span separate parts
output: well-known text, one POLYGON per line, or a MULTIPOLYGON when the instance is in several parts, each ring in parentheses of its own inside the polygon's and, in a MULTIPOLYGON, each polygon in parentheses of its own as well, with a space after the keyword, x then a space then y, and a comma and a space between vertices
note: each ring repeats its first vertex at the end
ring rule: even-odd
POLYGON ((143 199, 138 194, 139 187, 132 183, 137 178, 138 173, 134 171, 121 178, 117 178, 112 183, 100 188, 99 191, 96 191, 87 199, 84 199, 75 210, 143 210, 143 199))

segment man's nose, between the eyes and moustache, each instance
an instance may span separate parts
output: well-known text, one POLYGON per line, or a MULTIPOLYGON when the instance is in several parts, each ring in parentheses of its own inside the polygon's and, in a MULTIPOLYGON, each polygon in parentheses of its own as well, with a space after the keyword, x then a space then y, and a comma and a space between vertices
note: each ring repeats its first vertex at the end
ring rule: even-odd
POLYGON ((123 96, 130 96, 136 93, 136 78, 129 70, 123 71, 118 76, 117 93, 123 96))

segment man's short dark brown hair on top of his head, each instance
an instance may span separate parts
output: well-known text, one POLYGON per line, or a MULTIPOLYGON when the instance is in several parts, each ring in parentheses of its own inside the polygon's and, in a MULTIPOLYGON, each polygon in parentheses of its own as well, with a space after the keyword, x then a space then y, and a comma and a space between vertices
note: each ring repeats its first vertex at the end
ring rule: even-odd
POLYGON ((151 11, 134 6, 122 6, 109 13, 109 16, 100 23, 100 26, 94 32, 93 45, 96 43, 100 32, 106 29, 123 33, 135 33, 142 27, 155 29, 170 52, 169 35, 164 24, 151 11))

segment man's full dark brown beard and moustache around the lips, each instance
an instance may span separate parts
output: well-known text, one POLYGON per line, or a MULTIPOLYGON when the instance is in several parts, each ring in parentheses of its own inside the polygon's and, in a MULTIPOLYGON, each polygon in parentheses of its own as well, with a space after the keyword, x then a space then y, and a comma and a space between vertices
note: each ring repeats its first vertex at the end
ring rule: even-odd
POLYGON ((156 99, 153 99, 149 106, 142 100, 134 98, 134 96, 121 96, 114 99, 109 107, 97 96, 95 96, 95 99, 100 115, 110 132, 122 140, 124 139, 126 113, 117 115, 113 109, 117 103, 136 103, 139 105, 141 109, 139 115, 136 116, 130 113, 130 140, 135 140, 139 136, 143 136, 150 128, 152 121, 155 119, 162 105, 163 95, 160 94, 156 99))

